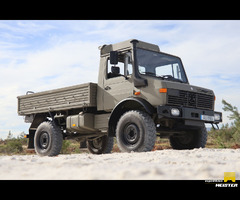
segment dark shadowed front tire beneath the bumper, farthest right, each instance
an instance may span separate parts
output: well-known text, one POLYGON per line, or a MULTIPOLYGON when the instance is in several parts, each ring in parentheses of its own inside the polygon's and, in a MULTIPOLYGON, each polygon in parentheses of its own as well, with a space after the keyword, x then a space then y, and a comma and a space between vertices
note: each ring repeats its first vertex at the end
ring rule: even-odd
POLYGON ((202 126, 196 130, 187 131, 183 136, 171 136, 169 139, 173 149, 204 148, 207 143, 207 130, 202 126))

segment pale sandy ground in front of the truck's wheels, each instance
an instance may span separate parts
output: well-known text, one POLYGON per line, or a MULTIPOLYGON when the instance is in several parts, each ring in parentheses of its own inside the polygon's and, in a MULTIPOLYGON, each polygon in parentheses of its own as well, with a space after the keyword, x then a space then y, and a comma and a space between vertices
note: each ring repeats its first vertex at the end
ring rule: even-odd
POLYGON ((224 172, 236 172, 236 179, 240 179, 240 149, 166 149, 56 157, 0 156, 1 180, 223 180, 224 172))

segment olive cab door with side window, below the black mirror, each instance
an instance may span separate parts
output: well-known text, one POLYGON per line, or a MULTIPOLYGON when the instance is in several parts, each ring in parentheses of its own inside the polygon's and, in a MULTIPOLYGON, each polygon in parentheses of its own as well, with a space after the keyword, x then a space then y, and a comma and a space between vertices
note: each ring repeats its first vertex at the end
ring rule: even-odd
POLYGON ((106 63, 106 78, 104 80, 104 110, 112 110, 121 100, 133 96, 133 78, 130 53, 120 53, 118 64, 106 63))

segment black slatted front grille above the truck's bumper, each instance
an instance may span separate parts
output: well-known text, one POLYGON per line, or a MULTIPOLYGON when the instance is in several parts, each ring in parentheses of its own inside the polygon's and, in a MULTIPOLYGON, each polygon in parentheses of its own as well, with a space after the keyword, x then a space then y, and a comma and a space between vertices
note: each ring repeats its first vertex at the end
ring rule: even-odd
POLYGON ((168 94, 168 104, 213 110, 214 96, 178 90, 168 94))

